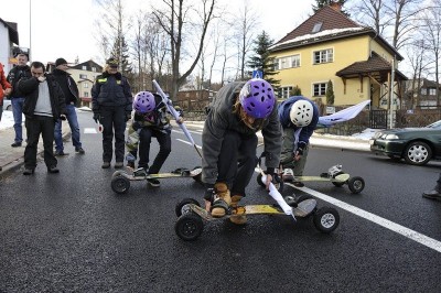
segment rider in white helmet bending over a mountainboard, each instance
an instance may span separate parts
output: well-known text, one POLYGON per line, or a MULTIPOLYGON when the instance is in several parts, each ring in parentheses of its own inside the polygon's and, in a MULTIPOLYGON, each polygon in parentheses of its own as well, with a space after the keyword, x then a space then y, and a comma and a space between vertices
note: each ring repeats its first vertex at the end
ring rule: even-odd
MULTIPOLYGON (((280 155, 282 177, 292 181, 294 176, 303 175, 310 138, 319 122, 319 108, 305 97, 293 96, 280 104, 278 112, 283 128, 283 149, 280 155)), ((304 186, 301 182, 294 182, 294 185, 304 186)))

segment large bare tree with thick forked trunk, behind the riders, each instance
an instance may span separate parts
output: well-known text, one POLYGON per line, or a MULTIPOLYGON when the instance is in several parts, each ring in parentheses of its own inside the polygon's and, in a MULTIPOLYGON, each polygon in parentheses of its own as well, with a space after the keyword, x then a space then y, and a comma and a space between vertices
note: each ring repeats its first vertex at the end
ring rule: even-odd
POLYGON ((175 99, 179 87, 185 82, 186 77, 193 72, 196 66, 202 50, 204 46, 205 35, 209 22, 214 18, 215 0, 201 0, 201 7, 192 6, 184 0, 162 0, 166 8, 158 9, 152 8, 153 15, 157 18, 158 23, 166 32, 170 37, 170 50, 171 50, 171 66, 172 66, 172 88, 171 98, 175 99), (187 4, 185 6, 184 4, 187 4), (200 8, 201 10, 195 10, 200 8), (192 20, 200 18, 200 32, 198 32, 198 47, 196 54, 191 62, 190 68, 181 74, 180 63, 182 61, 182 52, 184 51, 184 40, 186 33, 194 33, 195 25, 192 24, 192 20), (192 31, 186 31, 192 30, 192 31))

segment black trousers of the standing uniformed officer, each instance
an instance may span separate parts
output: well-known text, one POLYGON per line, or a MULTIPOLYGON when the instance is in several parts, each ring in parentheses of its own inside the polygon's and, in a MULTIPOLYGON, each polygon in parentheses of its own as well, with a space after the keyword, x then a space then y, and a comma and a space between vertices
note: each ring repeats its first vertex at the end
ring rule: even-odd
POLYGON ((110 162, 114 155, 114 130, 115 130, 115 161, 123 162, 126 110, 120 107, 101 107, 99 109, 103 124, 103 162, 110 162))

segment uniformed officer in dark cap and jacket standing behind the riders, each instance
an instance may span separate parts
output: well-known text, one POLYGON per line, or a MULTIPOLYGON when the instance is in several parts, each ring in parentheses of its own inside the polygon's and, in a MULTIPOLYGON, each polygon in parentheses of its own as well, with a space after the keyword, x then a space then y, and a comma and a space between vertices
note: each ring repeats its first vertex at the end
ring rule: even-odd
POLYGON ((92 88, 95 122, 103 124, 103 169, 110 167, 115 130, 115 167, 123 166, 126 122, 131 118, 132 96, 129 82, 118 72, 118 62, 109 58, 104 73, 92 88))

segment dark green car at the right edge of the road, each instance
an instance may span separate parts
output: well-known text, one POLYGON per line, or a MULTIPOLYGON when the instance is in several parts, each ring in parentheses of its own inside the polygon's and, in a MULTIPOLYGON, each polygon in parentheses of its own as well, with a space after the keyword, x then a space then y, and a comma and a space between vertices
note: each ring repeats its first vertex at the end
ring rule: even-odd
POLYGON ((378 131, 369 142, 370 151, 376 154, 424 165, 430 160, 441 159, 441 120, 422 128, 378 131))

